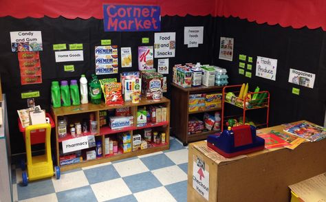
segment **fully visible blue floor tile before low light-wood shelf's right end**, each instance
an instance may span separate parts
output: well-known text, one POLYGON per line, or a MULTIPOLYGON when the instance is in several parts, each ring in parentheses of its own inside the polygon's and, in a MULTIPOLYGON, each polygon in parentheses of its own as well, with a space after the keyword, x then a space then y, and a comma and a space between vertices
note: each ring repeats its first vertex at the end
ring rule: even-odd
POLYGON ((164 168, 168 166, 175 165, 169 157, 166 157, 165 154, 153 155, 149 157, 144 157, 140 159, 149 170, 156 170, 159 168, 164 168))

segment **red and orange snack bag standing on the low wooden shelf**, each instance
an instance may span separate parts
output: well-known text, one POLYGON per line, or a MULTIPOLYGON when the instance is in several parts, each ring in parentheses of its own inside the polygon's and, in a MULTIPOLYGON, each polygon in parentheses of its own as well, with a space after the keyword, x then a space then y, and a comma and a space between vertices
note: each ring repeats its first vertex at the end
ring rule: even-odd
POLYGON ((120 82, 109 82, 105 85, 105 104, 123 104, 122 86, 120 82))

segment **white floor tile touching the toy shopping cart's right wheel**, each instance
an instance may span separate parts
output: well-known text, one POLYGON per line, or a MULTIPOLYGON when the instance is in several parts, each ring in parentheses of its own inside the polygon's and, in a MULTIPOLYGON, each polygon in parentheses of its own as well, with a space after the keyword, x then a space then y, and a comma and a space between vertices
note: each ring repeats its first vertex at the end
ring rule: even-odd
POLYGON ((65 173, 61 175, 59 180, 52 177, 52 183, 56 192, 71 190, 74 188, 80 188, 89 185, 83 170, 65 173))

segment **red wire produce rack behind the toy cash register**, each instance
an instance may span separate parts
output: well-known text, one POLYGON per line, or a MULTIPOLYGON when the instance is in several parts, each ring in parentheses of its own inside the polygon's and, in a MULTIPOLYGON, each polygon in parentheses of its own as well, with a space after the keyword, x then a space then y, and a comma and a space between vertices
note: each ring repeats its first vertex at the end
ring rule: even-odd
POLYGON ((260 117, 259 119, 256 120, 260 120, 260 122, 258 124, 256 124, 257 127, 263 126, 268 127, 268 121, 269 121, 269 114, 270 114, 270 92, 268 91, 258 91, 258 92, 248 92, 246 98, 235 98, 234 102, 232 102, 231 100, 227 100, 226 99, 226 95, 229 92, 232 92, 235 94, 235 96, 237 96, 240 92, 242 85, 230 85, 230 86, 226 86, 223 88, 223 96, 222 96, 222 112, 221 112, 221 131, 224 130, 225 126, 226 126, 226 122, 228 119, 230 118, 235 118, 235 117, 242 117, 243 123, 246 123, 246 113, 248 111, 252 111, 252 110, 257 110, 257 109, 265 109, 265 117, 260 117), (267 96, 265 98, 259 99, 259 95, 261 95, 262 93, 267 93, 267 96), (250 98, 252 98, 254 96, 254 94, 257 94, 257 100, 256 102, 260 102, 260 104, 250 104, 252 102, 250 102, 250 98), (225 115, 226 113, 226 103, 229 106, 235 106, 235 108, 241 109, 241 113, 235 115, 235 114, 228 114, 225 115), (245 103, 245 104, 243 104, 245 103), (261 121, 263 120, 263 121, 261 121))

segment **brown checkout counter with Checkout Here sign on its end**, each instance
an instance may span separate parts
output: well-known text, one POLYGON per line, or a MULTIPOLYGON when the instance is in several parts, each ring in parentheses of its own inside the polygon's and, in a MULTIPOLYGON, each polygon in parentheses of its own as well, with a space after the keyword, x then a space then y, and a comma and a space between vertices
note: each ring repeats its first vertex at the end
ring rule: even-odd
MULTIPOLYGON (((283 132, 283 126, 259 131, 283 132)), ((206 142, 189 144, 188 201, 290 201, 288 186, 326 172, 326 139, 231 159, 206 142), (204 168, 204 169, 203 169, 204 168)))

